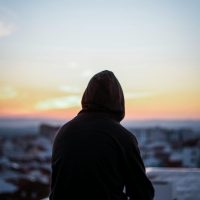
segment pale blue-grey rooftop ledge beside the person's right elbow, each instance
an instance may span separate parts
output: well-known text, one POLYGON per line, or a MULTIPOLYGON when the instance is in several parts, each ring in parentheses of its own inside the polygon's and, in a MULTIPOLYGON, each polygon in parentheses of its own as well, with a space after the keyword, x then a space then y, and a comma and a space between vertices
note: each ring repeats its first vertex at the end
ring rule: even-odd
POLYGON ((200 199, 200 168, 153 167, 146 172, 155 188, 154 200, 200 199))

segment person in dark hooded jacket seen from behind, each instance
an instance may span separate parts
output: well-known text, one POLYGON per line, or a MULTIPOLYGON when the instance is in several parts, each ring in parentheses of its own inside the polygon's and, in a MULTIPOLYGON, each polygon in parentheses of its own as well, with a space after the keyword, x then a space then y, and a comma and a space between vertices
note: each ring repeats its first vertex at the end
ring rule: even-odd
POLYGON ((124 95, 115 75, 94 75, 81 103, 55 137, 50 200, 153 199, 137 140, 120 124, 124 95))

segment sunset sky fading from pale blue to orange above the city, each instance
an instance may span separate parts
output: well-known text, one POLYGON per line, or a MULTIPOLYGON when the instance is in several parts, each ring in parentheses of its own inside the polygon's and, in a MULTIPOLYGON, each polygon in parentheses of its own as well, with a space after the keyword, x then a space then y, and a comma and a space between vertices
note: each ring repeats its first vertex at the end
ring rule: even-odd
POLYGON ((111 70, 125 119, 200 119, 199 0, 0 0, 0 117, 72 118, 111 70))

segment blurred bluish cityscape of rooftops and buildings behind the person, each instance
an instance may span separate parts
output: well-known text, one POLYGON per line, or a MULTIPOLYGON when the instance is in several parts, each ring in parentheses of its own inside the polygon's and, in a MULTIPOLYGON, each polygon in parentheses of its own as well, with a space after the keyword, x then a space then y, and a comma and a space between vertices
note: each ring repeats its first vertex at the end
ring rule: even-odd
MULTIPOLYGON (((48 197, 52 144, 58 129, 59 126, 41 124, 38 133, 0 136, 0 199, 28 200, 48 197)), ((174 179, 173 182, 179 180, 178 185, 180 185, 180 180, 188 176, 189 180, 191 177, 196 178, 195 185, 198 185, 200 180, 199 131, 190 128, 163 127, 129 127, 128 129, 137 138, 147 174, 153 182, 155 181, 154 187, 157 187, 156 184, 160 184, 161 181, 165 182, 169 177, 174 179), (185 176, 181 178, 177 172, 185 173, 185 176)), ((181 184, 186 182, 187 179, 181 184)), ((177 195, 182 195, 182 198, 178 199, 199 198, 198 194, 194 196, 194 193, 198 192, 198 187, 192 188, 187 195, 183 195, 185 194, 183 192, 187 191, 185 187, 182 186, 182 189, 179 188, 180 191, 177 190, 177 195)))

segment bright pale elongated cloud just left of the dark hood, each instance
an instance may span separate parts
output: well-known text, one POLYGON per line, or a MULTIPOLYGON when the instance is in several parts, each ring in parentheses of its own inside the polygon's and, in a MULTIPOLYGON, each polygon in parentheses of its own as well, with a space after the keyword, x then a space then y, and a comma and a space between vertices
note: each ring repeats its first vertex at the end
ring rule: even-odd
POLYGON ((38 110, 51 110, 51 109, 63 109, 71 108, 80 105, 80 96, 73 95, 68 97, 53 98, 41 101, 36 104, 38 110))

